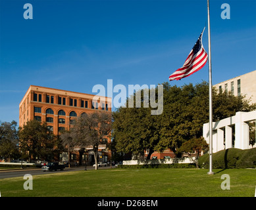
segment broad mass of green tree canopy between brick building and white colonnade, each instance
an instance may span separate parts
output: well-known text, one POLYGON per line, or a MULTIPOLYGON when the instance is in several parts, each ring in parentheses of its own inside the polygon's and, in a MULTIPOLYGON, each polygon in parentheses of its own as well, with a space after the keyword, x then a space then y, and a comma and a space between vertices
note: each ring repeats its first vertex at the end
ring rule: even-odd
MULTIPOLYGON (((135 97, 135 93, 134 93, 135 97)), ((170 148, 174 154, 182 144, 192 138, 203 136, 203 123, 209 122, 209 84, 170 86, 163 83, 163 114, 152 116, 151 107, 120 107, 113 113, 113 137, 117 152, 144 154, 163 152, 170 148)), ((217 93, 213 89, 213 121, 230 117, 239 111, 251 111, 244 96, 217 93)))

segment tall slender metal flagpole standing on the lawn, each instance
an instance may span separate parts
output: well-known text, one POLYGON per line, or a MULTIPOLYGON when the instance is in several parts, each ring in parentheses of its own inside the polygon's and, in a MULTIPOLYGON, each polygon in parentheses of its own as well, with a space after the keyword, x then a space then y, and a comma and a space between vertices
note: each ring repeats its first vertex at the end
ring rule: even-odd
POLYGON ((212 81, 211 81, 211 31, 210 31, 210 6, 207 0, 208 11, 208 46, 209 46, 209 172, 207 174, 213 175, 213 100, 212 100, 212 81))

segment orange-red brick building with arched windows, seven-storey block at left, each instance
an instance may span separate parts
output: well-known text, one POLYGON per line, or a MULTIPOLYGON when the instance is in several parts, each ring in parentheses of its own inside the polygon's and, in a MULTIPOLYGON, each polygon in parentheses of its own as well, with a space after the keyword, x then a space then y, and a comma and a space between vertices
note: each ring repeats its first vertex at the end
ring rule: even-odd
MULTIPOLYGON (((76 93, 30 85, 22 98, 19 109, 19 125, 22 127, 26 122, 36 119, 47 123, 49 131, 59 135, 60 131, 69 130, 74 119, 83 113, 104 110, 111 112, 111 98, 105 97, 104 102, 93 100, 95 95, 76 93)), ((111 139, 106 137, 109 142, 111 139)), ((78 152, 72 152, 72 160, 78 159, 78 152)), ((107 161, 110 152, 103 149, 99 151, 100 161, 107 161)), ((88 157, 88 161, 93 161, 88 157)))

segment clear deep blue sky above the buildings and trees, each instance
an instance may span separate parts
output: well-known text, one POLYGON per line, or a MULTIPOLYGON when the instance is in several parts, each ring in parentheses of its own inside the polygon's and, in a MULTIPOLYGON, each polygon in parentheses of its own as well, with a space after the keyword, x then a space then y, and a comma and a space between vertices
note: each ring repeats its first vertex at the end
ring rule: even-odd
MULTIPOLYGON (((255 70, 256 1, 210 1, 213 84, 255 70), (230 20, 220 17, 230 5, 230 20)), ((0 121, 18 121, 30 85, 91 93, 157 85, 180 68, 206 26, 207 1, 0 0, 0 121), (25 20, 25 3, 33 19, 25 20)), ((208 64, 171 85, 209 81, 208 64)), ((115 95, 114 95, 115 96, 115 95)))

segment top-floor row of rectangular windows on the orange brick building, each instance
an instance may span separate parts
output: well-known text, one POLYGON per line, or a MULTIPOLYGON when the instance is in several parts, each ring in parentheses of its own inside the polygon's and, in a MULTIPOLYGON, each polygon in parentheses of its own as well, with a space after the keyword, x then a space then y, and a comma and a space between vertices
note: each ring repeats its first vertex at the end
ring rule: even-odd
MULTIPOLYGON (((41 94, 34 93, 34 101, 36 102, 42 102, 42 96, 41 94)), ((46 103, 54 104, 54 96, 46 95, 46 103)), ((59 105, 66 105, 66 98, 58 96, 58 104, 59 105)), ((76 98, 69 98, 69 106, 78 106, 78 101, 76 98)), ((81 100, 80 102, 81 108, 89 108, 88 107, 88 100, 81 100)), ((92 109, 99 109, 99 103, 98 102, 91 102, 91 108, 92 109)), ((101 110, 109 110, 108 104, 101 103, 101 110)))

